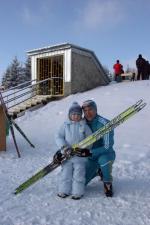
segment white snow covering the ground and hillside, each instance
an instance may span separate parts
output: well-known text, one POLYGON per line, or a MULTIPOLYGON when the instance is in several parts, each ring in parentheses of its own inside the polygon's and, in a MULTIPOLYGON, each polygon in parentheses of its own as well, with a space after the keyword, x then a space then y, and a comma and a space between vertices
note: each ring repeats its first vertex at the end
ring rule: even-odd
POLYGON ((109 86, 53 101, 16 120, 36 148, 16 131, 21 158, 17 158, 11 135, 7 151, 0 153, 0 225, 149 225, 150 224, 150 81, 112 83, 109 86), (57 197, 57 168, 15 196, 13 191, 46 166, 57 150, 56 129, 73 101, 94 99, 102 116, 112 119, 144 99, 147 106, 115 129, 116 161, 113 167, 114 197, 106 198, 96 177, 84 198, 57 197))

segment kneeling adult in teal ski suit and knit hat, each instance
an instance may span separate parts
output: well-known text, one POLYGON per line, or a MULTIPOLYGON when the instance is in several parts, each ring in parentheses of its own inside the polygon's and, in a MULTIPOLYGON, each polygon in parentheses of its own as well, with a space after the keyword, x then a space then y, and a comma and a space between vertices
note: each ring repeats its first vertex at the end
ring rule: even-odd
MULTIPOLYGON (((97 114, 97 105, 93 100, 87 100, 82 105, 87 124, 95 132, 103 127, 109 120, 97 114)), ((86 165, 86 184, 101 173, 104 182, 104 192, 107 197, 112 197, 112 164, 115 160, 114 131, 104 135, 92 146, 92 157, 88 158, 86 165)))

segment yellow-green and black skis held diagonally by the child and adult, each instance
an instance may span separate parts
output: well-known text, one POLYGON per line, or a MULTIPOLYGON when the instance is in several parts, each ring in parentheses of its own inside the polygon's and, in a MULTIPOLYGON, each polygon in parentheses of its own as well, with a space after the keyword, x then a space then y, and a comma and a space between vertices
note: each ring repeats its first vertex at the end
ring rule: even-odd
MULTIPOLYGON (((135 115, 137 112, 142 110, 145 106, 146 103, 144 103, 143 100, 139 100, 134 105, 130 106, 125 111, 116 116, 114 119, 112 119, 110 122, 106 123, 102 128, 98 129, 96 132, 85 138, 83 141, 79 142, 78 144, 72 145, 73 152, 71 152, 70 155, 64 153, 62 157, 62 162, 69 160, 72 157, 72 155, 75 154, 76 148, 87 148, 89 145, 93 144, 101 137, 103 137, 105 134, 109 133, 111 130, 113 130, 114 128, 122 124, 124 121, 128 120, 130 117, 135 115)), ((48 173, 56 169, 58 166, 60 166, 61 163, 53 160, 50 164, 48 164, 46 167, 38 171, 35 175, 33 175, 24 183, 22 183, 19 187, 17 187, 15 189, 14 194, 18 194, 23 190, 27 189, 32 184, 34 184, 35 182, 46 176, 48 173)))

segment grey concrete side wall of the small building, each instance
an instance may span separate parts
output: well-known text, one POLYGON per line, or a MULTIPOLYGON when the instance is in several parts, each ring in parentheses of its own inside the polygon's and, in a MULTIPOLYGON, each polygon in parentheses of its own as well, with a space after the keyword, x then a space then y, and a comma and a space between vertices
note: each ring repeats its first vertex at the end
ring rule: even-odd
POLYGON ((92 56, 72 52, 71 92, 83 92, 97 86, 107 85, 104 72, 98 68, 92 56), (103 73, 103 74, 102 74, 103 73))

